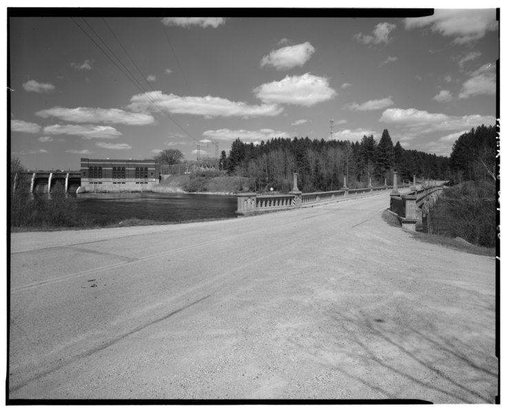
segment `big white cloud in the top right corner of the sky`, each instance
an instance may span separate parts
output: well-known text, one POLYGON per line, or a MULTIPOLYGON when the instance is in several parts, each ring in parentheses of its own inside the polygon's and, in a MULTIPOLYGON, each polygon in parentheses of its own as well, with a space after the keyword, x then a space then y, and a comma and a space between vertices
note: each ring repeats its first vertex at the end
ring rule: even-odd
POLYGON ((433 32, 453 36, 453 43, 465 44, 481 39, 486 32, 496 30, 495 9, 446 10, 436 9, 432 16, 404 19, 405 28, 431 25, 433 32))

